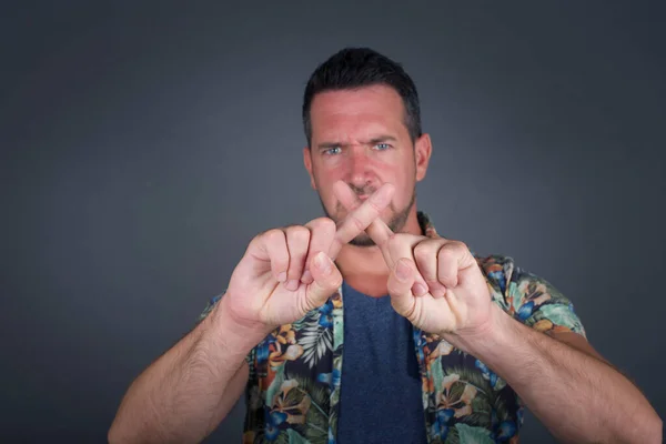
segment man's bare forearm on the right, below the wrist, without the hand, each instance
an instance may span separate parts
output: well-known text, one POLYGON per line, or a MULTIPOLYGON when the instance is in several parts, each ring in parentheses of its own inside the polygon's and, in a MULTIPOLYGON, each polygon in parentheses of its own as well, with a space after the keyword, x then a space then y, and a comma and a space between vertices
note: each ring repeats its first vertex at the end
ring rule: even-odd
POLYGON ((488 365, 563 441, 660 443, 662 422, 643 394, 601 360, 493 312, 475 337, 445 334, 488 365))

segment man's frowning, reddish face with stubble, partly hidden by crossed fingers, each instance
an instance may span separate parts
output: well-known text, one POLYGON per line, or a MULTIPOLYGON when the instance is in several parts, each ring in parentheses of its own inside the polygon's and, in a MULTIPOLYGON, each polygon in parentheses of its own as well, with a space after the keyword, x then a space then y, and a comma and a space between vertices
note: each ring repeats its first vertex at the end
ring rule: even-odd
MULTIPOLYGON (((430 158, 427 135, 414 149, 400 94, 385 85, 327 91, 314 97, 310 115, 312 145, 303 151, 304 163, 326 215, 339 222, 347 214, 332 191, 336 181, 344 181, 361 200, 389 182, 395 193, 381 216, 400 232, 430 158)), ((374 244, 365 233, 351 243, 374 244)))

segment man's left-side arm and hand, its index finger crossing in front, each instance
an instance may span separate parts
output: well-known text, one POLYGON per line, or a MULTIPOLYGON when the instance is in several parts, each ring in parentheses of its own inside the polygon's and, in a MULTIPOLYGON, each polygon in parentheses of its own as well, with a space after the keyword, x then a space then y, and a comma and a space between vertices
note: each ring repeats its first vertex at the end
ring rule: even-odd
POLYGON ((340 224, 320 218, 254 236, 216 306, 132 383, 109 441, 203 440, 245 386, 245 356, 271 331, 302 319, 337 291, 342 274, 333 261, 389 205, 393 192, 385 183, 340 224))

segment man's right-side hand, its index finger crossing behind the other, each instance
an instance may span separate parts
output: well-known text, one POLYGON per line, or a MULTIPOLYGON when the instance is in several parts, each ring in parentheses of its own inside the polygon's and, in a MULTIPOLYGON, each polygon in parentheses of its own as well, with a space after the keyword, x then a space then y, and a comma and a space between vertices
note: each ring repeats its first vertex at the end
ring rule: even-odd
MULTIPOLYGON (((342 181, 334 192, 350 211, 362 205, 342 181)), ((393 233, 380 218, 365 231, 391 270, 391 304, 412 324, 437 334, 476 334, 490 326, 488 286, 464 243, 393 233)))

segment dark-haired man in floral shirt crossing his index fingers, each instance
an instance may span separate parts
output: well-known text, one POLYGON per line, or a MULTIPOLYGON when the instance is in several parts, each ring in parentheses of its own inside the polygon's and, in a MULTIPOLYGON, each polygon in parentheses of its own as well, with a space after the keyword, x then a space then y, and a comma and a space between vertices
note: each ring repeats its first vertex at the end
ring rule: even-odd
POLYGON ((332 56, 303 120, 327 218, 252 240, 224 295, 132 383, 111 442, 199 442, 244 390, 250 443, 515 443, 524 404, 563 441, 662 442, 568 300, 417 212, 432 147, 400 64, 332 56))

